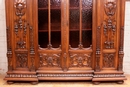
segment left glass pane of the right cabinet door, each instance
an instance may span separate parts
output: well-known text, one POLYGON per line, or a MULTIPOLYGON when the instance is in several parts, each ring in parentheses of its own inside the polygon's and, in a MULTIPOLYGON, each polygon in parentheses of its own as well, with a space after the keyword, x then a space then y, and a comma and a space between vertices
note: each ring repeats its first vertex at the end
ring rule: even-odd
POLYGON ((70 0, 69 10, 69 43, 76 48, 79 45, 79 0, 70 0))

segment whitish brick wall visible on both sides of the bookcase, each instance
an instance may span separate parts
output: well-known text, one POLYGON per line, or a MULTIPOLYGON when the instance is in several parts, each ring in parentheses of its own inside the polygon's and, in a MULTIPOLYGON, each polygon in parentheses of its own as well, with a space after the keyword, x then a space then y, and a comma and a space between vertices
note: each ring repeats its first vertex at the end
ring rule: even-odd
MULTIPOLYGON (((126 2, 124 72, 130 74, 130 2, 126 2)), ((5 0, 0 0, 0 73, 7 71, 5 0)))

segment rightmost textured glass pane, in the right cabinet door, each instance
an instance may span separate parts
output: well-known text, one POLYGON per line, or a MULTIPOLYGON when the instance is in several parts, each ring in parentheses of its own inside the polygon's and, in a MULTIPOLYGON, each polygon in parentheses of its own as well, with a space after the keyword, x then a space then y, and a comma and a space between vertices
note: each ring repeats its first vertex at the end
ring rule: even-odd
POLYGON ((82 44, 85 48, 92 44, 92 0, 82 0, 82 44))

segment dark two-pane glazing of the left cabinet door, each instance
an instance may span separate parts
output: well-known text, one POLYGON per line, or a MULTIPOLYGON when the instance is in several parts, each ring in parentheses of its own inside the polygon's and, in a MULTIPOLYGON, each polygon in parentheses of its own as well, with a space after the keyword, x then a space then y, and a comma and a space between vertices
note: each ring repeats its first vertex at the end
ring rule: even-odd
POLYGON ((46 48, 51 37, 51 44, 54 48, 61 45, 61 1, 50 0, 50 27, 51 36, 49 37, 49 0, 38 0, 38 30, 39 45, 46 48))

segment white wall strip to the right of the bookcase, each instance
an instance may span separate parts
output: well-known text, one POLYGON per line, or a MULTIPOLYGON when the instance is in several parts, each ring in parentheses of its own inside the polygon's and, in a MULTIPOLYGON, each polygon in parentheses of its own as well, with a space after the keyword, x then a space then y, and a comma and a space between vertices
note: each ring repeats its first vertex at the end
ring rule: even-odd
POLYGON ((130 1, 126 2, 124 52, 124 72, 130 74, 130 1))

